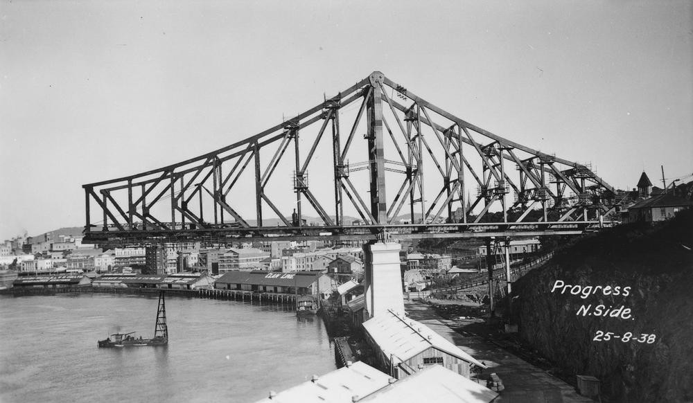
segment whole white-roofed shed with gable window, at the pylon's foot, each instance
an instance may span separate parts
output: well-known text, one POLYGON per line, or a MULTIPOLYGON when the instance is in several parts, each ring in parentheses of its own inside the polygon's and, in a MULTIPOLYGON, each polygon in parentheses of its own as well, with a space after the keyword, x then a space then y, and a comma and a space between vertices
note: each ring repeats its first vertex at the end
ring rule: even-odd
POLYGON ((365 321, 363 328, 380 367, 397 379, 434 364, 464 377, 471 366, 486 368, 428 326, 392 310, 365 321))

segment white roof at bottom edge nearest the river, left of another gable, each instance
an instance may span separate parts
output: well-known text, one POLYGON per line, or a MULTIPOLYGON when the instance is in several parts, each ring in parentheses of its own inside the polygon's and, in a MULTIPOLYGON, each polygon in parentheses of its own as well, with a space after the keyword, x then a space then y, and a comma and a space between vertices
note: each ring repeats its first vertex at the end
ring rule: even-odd
POLYGON ((351 403, 355 395, 370 395, 387 386, 388 379, 389 375, 357 361, 351 366, 326 373, 315 382, 304 382, 277 393, 272 399, 265 397, 257 403, 351 403))

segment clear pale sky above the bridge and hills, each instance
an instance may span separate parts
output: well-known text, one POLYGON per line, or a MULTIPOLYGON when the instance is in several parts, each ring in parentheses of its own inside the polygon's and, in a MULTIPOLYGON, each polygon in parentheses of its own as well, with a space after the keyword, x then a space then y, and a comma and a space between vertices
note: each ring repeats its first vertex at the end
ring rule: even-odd
POLYGON ((0 240, 383 71, 617 188, 693 172, 690 1, 0 2, 0 240))

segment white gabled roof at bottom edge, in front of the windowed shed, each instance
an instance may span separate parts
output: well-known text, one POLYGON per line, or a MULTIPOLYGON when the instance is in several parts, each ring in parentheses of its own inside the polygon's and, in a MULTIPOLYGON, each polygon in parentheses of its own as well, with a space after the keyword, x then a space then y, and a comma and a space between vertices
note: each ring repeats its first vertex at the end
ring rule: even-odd
POLYGON ((359 402, 489 403, 498 393, 439 365, 414 373, 359 402))

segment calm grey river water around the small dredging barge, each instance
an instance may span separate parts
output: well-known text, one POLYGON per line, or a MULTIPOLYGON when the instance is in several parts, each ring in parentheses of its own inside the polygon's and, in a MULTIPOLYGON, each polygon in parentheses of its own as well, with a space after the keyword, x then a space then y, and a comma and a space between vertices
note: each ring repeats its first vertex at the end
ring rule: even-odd
POLYGON ((167 347, 96 347, 152 337, 156 312, 155 296, 0 296, 0 402, 253 402, 335 369, 319 318, 257 301, 167 296, 167 347))

